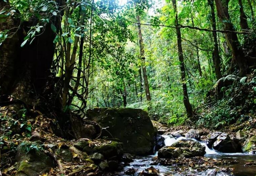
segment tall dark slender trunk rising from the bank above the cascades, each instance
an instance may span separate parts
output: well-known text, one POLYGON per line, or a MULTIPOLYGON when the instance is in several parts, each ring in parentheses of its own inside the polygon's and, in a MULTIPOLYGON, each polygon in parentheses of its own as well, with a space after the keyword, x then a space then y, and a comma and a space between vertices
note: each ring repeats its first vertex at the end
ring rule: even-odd
POLYGON ((178 13, 177 13, 177 6, 176 0, 173 1, 173 7, 175 11, 175 26, 176 26, 176 33, 177 33, 177 44, 178 44, 178 52, 179 52, 179 61, 180 61, 180 71, 181 71, 181 80, 182 80, 182 87, 183 87, 183 102, 186 108, 187 116, 192 117, 194 112, 192 110, 192 106, 189 102, 188 91, 187 91, 187 83, 186 83, 186 72, 185 72, 185 64, 183 58, 183 51, 181 45, 181 33, 178 23, 178 13))

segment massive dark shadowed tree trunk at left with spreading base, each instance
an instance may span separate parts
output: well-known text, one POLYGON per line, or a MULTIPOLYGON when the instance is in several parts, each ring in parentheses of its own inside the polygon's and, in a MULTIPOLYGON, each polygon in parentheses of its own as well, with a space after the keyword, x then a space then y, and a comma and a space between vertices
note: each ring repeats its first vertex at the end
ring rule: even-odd
MULTIPOLYGON (((64 1, 56 0, 60 7, 64 7, 64 1)), ((9 3, 0 1, 0 9, 10 9, 9 3)), ((60 13, 61 12, 61 9, 60 13)), ((28 110, 36 109, 49 118, 56 120, 52 124, 52 129, 57 136, 63 138, 95 138, 98 134, 85 133, 86 125, 93 125, 96 133, 100 133, 98 124, 85 122, 79 115, 72 112, 63 113, 59 92, 56 91, 56 73, 51 73, 51 66, 54 57, 55 44, 53 40, 56 33, 52 31, 51 25, 55 25, 59 31, 61 16, 53 15, 50 23, 40 23, 44 26, 43 32, 37 35, 31 44, 28 41, 23 47, 23 38, 27 35, 32 26, 38 23, 36 17, 31 17, 29 21, 20 23, 15 15, 8 17, 4 22, 0 22, 0 31, 10 30, 16 27, 11 38, 7 38, 0 48, 0 87, 7 89, 0 91, 0 103, 3 95, 12 96, 9 104, 14 100, 19 100, 27 105, 28 110), (11 24, 11 25, 7 25, 11 24)), ((11 31, 12 32, 12 31, 11 31)), ((67 70, 66 70, 67 71, 67 70)), ((66 73, 65 73, 66 74, 66 73)), ((58 87, 58 89, 62 87, 58 87)), ((19 110, 19 109, 18 109, 19 110)), ((88 130, 87 130, 88 131, 88 130)))

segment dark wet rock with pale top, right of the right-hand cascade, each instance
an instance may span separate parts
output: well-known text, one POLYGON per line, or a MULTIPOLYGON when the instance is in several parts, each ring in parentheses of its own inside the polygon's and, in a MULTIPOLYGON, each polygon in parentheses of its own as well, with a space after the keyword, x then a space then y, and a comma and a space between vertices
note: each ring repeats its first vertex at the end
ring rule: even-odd
POLYGON ((213 149, 223 153, 242 152, 242 145, 236 138, 231 139, 228 134, 221 133, 213 144, 213 149))

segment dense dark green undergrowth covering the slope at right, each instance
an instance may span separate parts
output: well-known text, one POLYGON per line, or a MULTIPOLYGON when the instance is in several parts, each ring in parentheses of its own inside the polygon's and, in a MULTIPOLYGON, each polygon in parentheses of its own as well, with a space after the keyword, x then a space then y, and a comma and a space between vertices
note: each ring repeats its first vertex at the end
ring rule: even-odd
POLYGON ((239 78, 227 87, 221 87, 219 94, 221 95, 217 95, 215 92, 214 96, 208 97, 209 103, 198 110, 196 125, 221 128, 255 117, 255 74, 239 78))

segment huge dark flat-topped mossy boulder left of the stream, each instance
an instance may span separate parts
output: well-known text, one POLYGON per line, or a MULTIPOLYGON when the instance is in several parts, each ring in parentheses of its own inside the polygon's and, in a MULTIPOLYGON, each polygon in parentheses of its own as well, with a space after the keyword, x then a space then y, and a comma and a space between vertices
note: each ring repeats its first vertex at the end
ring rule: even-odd
POLYGON ((88 109, 89 120, 101 125, 101 137, 117 138, 124 146, 125 153, 152 154, 155 145, 155 130, 148 113, 133 108, 88 109))

